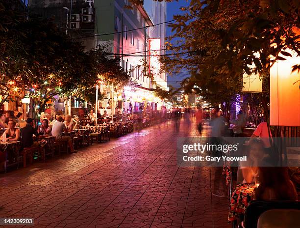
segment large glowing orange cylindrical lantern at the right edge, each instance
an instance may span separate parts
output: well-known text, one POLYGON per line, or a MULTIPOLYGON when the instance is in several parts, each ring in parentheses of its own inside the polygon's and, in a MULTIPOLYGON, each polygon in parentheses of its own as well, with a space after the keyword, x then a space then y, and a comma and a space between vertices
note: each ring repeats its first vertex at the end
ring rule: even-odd
POLYGON ((292 57, 277 60, 270 70, 270 125, 300 126, 300 73, 292 71, 299 64, 295 51, 284 50, 292 57))

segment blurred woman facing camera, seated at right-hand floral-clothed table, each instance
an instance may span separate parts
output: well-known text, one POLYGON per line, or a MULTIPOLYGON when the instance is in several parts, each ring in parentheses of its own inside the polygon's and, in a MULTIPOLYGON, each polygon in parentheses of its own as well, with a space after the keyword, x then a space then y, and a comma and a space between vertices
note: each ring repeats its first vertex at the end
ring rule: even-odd
POLYGON ((241 182, 254 183, 254 175, 258 173, 258 167, 260 162, 264 158, 263 145, 258 140, 252 140, 250 142, 250 149, 247 155, 247 161, 241 161, 238 169, 238 180, 237 184, 241 182), (242 172, 241 177, 243 180, 239 181, 239 174, 242 172))

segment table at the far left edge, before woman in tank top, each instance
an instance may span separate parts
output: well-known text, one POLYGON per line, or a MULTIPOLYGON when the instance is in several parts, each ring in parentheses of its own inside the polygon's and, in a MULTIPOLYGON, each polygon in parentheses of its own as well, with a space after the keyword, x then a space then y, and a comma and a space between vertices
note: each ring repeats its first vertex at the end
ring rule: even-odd
POLYGON ((6 172, 7 169, 7 161, 8 166, 17 164, 20 148, 20 141, 0 142, 0 158, 4 158, 4 172, 6 172))

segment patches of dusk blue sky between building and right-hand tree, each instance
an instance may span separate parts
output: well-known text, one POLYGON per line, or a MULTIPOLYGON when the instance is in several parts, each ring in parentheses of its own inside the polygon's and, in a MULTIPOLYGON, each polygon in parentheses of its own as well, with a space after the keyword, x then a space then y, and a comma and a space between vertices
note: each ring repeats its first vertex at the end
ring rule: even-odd
MULTIPOLYGON (((178 0, 167 3, 167 21, 170 21, 173 18, 173 15, 183 14, 183 12, 179 9, 181 6, 188 6, 189 0, 178 0)), ((167 26, 167 36, 172 35, 172 29, 167 26)), ((186 70, 180 70, 186 71, 186 70)), ((172 85, 173 87, 180 87, 180 83, 184 78, 189 77, 189 73, 174 73, 173 76, 168 76, 168 85, 172 85), (176 83, 176 81, 179 81, 176 83)))

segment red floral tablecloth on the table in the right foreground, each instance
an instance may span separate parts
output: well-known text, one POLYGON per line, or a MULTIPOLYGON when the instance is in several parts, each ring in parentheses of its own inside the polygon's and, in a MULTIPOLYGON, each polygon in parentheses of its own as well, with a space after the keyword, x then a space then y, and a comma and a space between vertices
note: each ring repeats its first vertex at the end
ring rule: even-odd
POLYGON ((239 213, 245 213, 248 203, 254 199, 255 184, 238 184, 235 186, 229 206, 228 221, 238 219, 239 213))

